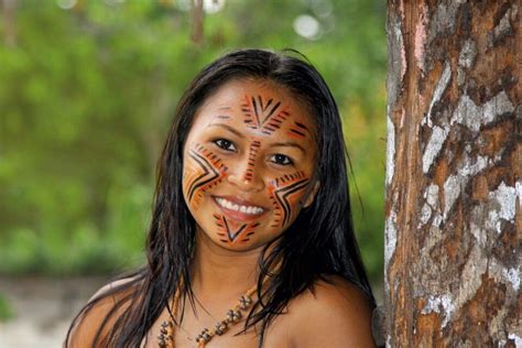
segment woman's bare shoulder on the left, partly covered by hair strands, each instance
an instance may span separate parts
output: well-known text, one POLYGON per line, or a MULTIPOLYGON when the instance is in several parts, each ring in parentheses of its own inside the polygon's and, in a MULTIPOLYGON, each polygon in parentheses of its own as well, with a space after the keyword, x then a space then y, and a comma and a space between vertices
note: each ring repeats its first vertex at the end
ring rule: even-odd
POLYGON ((73 323, 66 347, 93 347, 98 333, 100 337, 104 337, 112 320, 109 320, 106 328, 100 331, 104 322, 113 309, 117 311, 113 316, 116 318, 118 313, 126 308, 126 305, 118 307, 118 304, 132 291, 131 287, 122 287, 121 290, 119 287, 129 285, 133 281, 135 281, 134 278, 126 278, 106 284, 98 290, 73 323))

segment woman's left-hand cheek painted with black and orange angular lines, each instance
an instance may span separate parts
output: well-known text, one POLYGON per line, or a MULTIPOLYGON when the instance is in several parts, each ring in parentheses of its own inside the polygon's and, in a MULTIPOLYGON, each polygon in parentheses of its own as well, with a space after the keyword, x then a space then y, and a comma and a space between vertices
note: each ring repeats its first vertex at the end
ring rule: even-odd
POLYGON ((187 205, 197 209, 205 192, 219 185, 227 175, 221 159, 200 144, 195 144, 185 154, 183 168, 183 193, 187 205))

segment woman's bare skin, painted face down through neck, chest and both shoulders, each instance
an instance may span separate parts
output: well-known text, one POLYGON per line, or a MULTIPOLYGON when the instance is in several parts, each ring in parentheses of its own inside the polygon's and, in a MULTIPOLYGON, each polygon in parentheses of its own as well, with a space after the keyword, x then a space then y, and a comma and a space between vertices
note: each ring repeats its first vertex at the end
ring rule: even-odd
MULTIPOLYGON (((196 224, 192 265, 193 307, 186 302, 176 347, 195 347, 203 328, 214 328, 258 278, 262 248, 313 203, 315 126, 307 109, 270 81, 233 80, 216 91, 196 115, 184 152, 185 202, 196 224), (225 199, 225 200, 224 200, 225 199), (242 207, 242 209, 241 209, 242 207)), ((318 281, 314 292, 293 298, 265 333, 265 347, 373 347, 371 309, 358 287, 339 278, 318 281)), ((254 297, 255 300, 255 297, 254 297)), ((105 318, 111 300, 87 314, 74 347, 87 347, 91 327, 105 318)), ((160 315, 144 347, 157 347, 160 315)), ((240 322, 207 347, 257 347, 254 329, 240 322)))

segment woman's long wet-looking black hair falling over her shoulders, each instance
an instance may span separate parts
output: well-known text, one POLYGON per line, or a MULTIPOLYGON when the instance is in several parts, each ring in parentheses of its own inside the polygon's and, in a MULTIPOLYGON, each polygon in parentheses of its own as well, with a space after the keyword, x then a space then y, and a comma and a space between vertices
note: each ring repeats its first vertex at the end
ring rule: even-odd
POLYGON ((95 346, 139 347, 176 291, 193 298, 189 267, 196 225, 182 193, 183 146, 198 108, 232 79, 270 80, 286 88, 308 107, 317 129, 315 178, 320 185, 313 204, 261 253, 259 302, 252 307, 244 329, 260 328, 259 345, 262 346, 265 328, 284 312, 289 302, 313 289, 318 279, 326 280, 325 276, 331 274, 358 285, 374 306, 354 235, 339 111, 323 77, 303 57, 295 51, 240 50, 216 59, 194 78, 178 102, 157 164, 153 216, 146 241, 148 263, 130 274, 130 281, 90 301, 73 322, 72 327, 107 296, 127 294, 120 296, 101 323, 95 346), (276 263, 281 263, 278 271, 271 273, 276 263), (269 282, 260 286, 265 278, 269 282), (109 320, 113 324, 104 327, 109 320), (109 334, 101 337, 102 330, 109 334))

